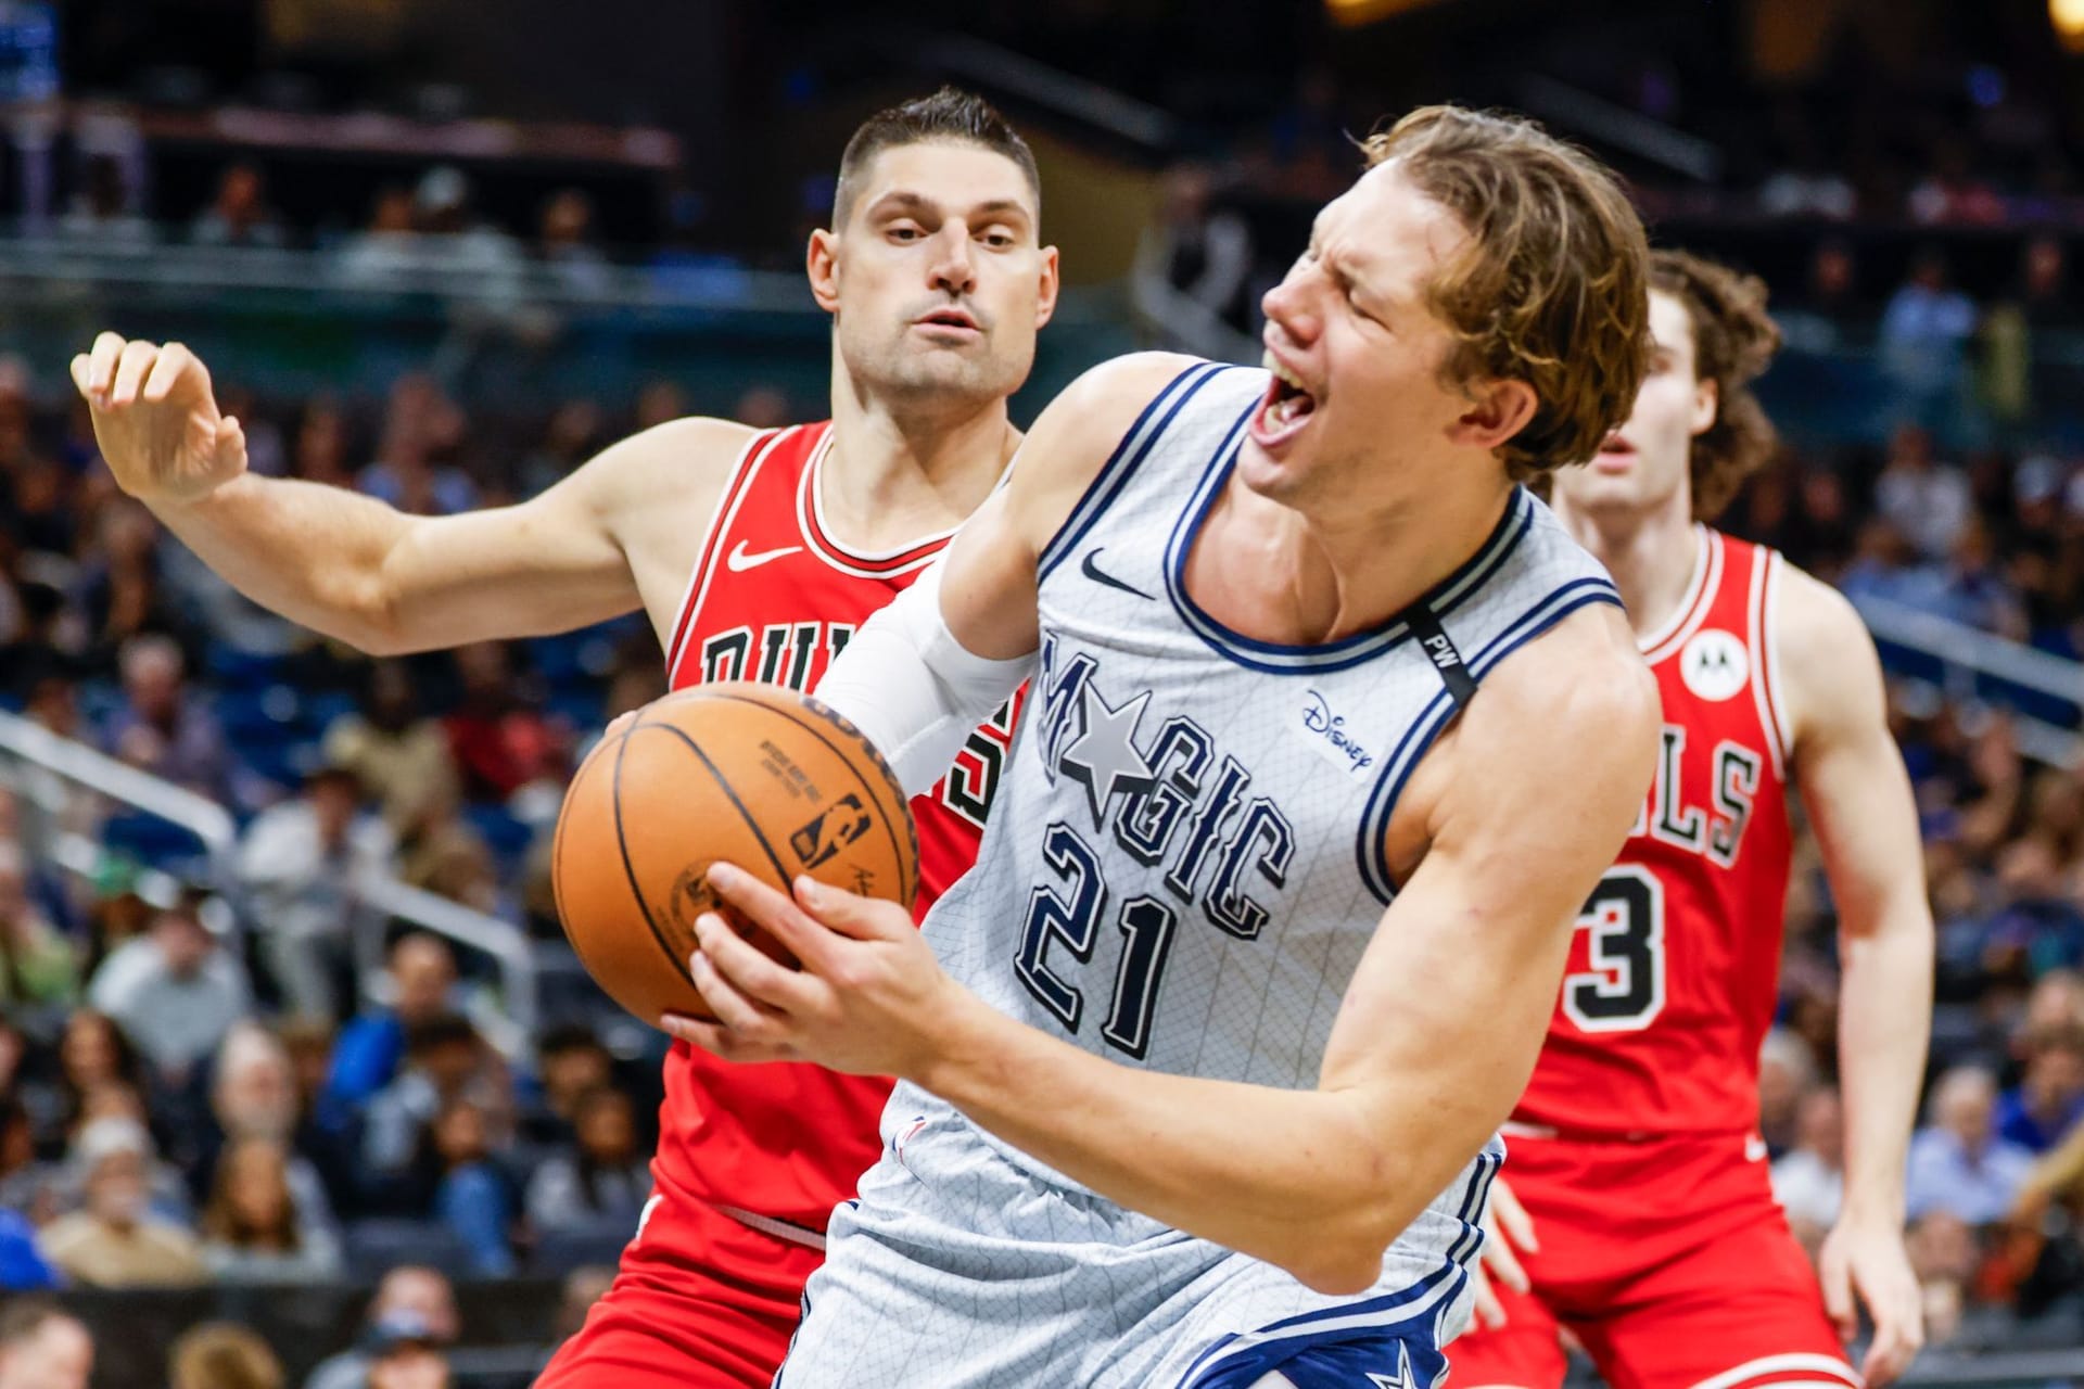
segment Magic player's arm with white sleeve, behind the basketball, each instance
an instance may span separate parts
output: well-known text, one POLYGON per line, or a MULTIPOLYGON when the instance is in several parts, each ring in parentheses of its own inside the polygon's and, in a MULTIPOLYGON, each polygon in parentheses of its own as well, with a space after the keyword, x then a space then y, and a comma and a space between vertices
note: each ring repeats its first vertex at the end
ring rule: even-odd
POLYGON ((1036 566, 1146 404, 1190 362, 1146 352, 1094 367, 1021 439, 1007 485, 948 552, 869 618, 817 698, 846 714, 919 795, 1032 668, 1036 566))

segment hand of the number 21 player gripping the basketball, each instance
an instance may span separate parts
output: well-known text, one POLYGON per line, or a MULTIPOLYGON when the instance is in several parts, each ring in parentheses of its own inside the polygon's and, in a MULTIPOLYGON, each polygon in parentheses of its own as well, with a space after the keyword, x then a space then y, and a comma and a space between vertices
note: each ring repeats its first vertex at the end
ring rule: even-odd
POLYGON ((777 964, 704 912, 688 977, 717 1020, 667 1014, 665 1031, 725 1060, 809 1060, 854 1075, 917 1077, 934 1060, 934 1025, 967 995, 934 962, 911 912, 807 877, 790 898, 729 864, 713 864, 709 885, 802 968, 777 964))

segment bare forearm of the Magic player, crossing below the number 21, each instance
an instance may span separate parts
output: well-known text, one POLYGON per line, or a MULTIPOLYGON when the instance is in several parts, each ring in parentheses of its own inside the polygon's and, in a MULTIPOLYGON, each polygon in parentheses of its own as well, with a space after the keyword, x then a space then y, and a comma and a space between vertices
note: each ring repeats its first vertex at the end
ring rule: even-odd
POLYGON ((1100 1195, 1328 1293, 1375 1283, 1438 1195, 1344 1093, 1117 1066, 963 995, 911 1079, 1100 1195))

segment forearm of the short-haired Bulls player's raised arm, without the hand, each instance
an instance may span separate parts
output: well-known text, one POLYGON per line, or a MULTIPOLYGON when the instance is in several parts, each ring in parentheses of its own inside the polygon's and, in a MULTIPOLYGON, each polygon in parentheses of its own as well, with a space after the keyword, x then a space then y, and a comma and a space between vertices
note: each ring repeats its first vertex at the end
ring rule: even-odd
POLYGON ((196 502, 152 510, 263 608, 369 652, 394 650, 383 562, 411 519, 383 502, 246 473, 196 502))

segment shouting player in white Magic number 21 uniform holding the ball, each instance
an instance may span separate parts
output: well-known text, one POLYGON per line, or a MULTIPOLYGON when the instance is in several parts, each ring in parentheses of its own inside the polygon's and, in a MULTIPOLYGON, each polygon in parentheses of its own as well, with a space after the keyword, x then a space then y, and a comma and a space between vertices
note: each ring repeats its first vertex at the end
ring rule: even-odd
POLYGON ((819 693, 932 783, 1034 673, 927 916, 713 885, 723 1056, 900 1085, 782 1389, 1432 1385, 1494 1131, 1651 781, 1613 585, 1523 487, 1646 360, 1646 248, 1538 129, 1367 144, 1269 371, 1088 373, 819 693), (936 952, 940 964, 936 964, 936 952))

